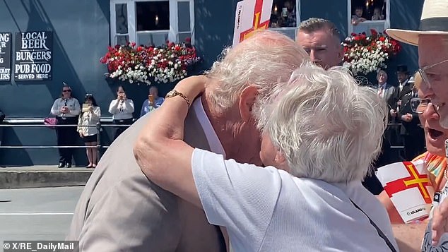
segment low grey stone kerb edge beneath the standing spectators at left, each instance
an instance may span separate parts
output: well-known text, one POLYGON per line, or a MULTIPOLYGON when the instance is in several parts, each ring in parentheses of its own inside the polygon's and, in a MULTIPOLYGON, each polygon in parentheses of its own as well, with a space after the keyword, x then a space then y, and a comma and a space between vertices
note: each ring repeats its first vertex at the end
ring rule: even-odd
POLYGON ((0 170, 0 189, 85 186, 92 170, 0 170))

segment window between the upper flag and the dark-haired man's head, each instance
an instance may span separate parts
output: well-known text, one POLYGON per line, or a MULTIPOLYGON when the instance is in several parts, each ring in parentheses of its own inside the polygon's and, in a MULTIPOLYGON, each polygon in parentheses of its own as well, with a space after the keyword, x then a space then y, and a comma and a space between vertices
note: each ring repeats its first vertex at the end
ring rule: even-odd
POLYGON ((295 40, 300 25, 299 0, 273 0, 269 29, 282 32, 295 40))

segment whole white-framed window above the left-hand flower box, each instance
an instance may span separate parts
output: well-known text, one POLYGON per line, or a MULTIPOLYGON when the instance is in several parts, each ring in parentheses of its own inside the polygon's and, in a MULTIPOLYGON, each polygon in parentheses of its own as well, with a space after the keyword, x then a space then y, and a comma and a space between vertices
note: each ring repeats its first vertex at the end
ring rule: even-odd
POLYGON ((110 0, 111 44, 194 43, 194 0, 110 0))

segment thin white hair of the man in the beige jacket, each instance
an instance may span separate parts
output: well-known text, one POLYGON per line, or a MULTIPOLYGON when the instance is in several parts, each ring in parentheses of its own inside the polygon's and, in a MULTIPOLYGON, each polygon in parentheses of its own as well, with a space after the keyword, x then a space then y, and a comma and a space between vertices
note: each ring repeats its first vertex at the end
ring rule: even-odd
MULTIPOLYGON (((305 50, 289 37, 261 30, 235 48, 224 49, 221 59, 206 72, 219 83, 209 98, 224 112, 249 85, 256 85, 259 98, 264 97, 275 85, 285 83, 304 59, 309 59, 305 50)), ((261 103, 257 101, 258 106, 261 103)))

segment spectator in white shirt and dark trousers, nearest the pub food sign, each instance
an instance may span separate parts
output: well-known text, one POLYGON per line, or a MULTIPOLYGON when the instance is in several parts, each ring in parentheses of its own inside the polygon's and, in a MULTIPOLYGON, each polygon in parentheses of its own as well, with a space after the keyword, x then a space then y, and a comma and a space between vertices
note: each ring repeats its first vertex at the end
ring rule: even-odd
MULTIPOLYGON (((80 112, 81 107, 78 100, 71 96, 70 86, 64 83, 61 97, 54 100, 50 111, 52 115, 56 116, 57 125, 61 125, 56 127, 58 146, 71 146, 76 144, 76 124, 78 124, 78 115, 80 112)), ((59 168, 71 167, 73 151, 73 148, 59 148, 59 168)))

